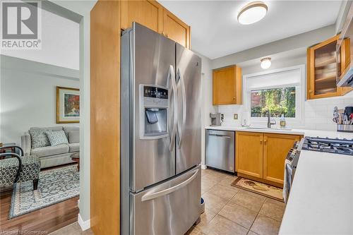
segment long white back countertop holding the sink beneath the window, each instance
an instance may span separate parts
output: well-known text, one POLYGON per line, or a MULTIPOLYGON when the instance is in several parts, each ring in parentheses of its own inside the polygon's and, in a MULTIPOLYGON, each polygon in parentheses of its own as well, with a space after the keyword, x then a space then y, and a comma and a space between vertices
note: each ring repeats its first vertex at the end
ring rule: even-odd
POLYGON ((206 126, 205 129, 208 130, 221 130, 221 131, 249 131, 249 132, 261 132, 261 133, 278 133, 278 134, 289 134, 289 135, 304 135, 311 137, 321 137, 321 138, 347 138, 352 139, 353 133, 344 133, 337 131, 319 131, 319 130, 309 130, 309 129, 289 129, 289 128, 262 128, 262 129, 252 129, 241 127, 241 126, 206 126))

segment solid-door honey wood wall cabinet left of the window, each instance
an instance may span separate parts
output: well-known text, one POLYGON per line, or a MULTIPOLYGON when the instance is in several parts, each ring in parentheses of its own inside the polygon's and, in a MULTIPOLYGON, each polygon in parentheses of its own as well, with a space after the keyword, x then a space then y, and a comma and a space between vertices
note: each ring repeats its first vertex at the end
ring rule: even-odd
POLYGON ((241 104, 240 67, 213 70, 213 105, 219 104, 241 104))

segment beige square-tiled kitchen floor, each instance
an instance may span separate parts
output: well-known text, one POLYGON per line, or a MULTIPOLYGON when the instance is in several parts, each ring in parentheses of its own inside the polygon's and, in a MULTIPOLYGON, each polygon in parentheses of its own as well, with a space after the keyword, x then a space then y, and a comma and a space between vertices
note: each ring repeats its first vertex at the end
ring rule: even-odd
MULTIPOLYGON (((187 234, 278 234, 285 212, 285 203, 231 186, 237 176, 210 169, 201 172, 201 193, 205 199, 205 212, 201 215, 201 222, 187 234)), ((52 233, 52 235, 76 234, 93 233, 90 229, 81 231, 77 222, 52 233)))

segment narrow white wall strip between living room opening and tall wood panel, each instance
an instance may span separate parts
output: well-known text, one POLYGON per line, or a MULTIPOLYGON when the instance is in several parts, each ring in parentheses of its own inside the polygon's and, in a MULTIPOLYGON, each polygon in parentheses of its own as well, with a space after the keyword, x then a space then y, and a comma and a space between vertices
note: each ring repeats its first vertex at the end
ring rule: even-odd
POLYGON ((80 18, 80 214, 81 228, 90 227, 90 11, 97 0, 60 1, 54 4, 73 11, 80 18))

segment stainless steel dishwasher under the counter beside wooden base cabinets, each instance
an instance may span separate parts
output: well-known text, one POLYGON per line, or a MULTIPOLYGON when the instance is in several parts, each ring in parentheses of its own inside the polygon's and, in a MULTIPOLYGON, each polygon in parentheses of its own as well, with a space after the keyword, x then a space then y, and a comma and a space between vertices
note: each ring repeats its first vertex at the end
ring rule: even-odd
POLYGON ((235 172, 234 131, 206 130, 206 165, 235 172))

